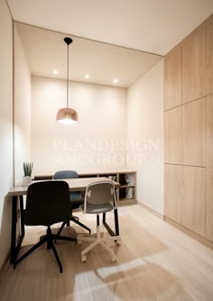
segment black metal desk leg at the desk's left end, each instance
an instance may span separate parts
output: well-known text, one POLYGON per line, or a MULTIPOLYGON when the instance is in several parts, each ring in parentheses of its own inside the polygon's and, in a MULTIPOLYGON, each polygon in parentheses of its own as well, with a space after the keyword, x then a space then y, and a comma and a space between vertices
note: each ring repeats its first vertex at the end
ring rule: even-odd
POLYGON ((12 232, 11 232, 11 256, 10 263, 14 263, 18 252, 21 248, 24 236, 24 222, 23 222, 23 196, 13 196, 12 202, 12 232), (21 235, 16 245, 16 223, 17 223, 17 202, 20 204, 20 223, 21 223, 21 235))

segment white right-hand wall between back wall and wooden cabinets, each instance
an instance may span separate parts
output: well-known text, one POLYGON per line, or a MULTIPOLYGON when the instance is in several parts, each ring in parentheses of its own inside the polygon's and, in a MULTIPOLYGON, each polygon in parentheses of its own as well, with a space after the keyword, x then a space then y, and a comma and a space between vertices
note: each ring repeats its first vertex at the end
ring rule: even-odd
POLYGON ((163 214, 163 60, 128 89, 127 137, 137 200, 163 214))

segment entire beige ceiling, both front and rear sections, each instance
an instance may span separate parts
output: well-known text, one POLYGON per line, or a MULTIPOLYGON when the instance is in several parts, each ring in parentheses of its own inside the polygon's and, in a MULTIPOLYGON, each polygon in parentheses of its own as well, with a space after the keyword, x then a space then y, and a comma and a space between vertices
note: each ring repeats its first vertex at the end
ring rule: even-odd
POLYGON ((16 27, 32 75, 66 78, 63 39, 69 36, 73 39, 69 79, 116 87, 130 87, 213 12, 213 0, 7 3, 14 21, 19 22, 16 27), (57 75, 52 74, 54 68, 57 75), (85 74, 90 78, 84 78, 85 74))

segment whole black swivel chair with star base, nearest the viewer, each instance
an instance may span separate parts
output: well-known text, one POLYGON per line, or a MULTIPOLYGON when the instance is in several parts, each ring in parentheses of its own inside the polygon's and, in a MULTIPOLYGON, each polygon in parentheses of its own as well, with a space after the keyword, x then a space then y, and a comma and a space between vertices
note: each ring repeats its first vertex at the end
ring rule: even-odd
POLYGON ((65 181, 44 181, 33 183, 28 187, 24 224, 47 226, 47 231, 46 235, 40 238, 40 242, 37 242, 29 251, 26 251, 19 259, 14 261, 14 269, 32 251, 35 251, 43 243, 47 242, 47 247, 53 251, 60 267, 60 273, 62 273, 62 265, 53 241, 56 237, 57 240, 73 242, 77 242, 77 240, 51 233, 51 225, 67 221, 69 219, 69 212, 69 185, 65 181))

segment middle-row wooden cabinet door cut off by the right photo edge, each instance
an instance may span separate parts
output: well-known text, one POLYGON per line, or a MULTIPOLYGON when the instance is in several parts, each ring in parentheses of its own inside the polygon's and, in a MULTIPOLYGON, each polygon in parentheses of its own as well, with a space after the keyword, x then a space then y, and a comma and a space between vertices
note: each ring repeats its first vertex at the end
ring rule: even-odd
POLYGON ((213 169, 213 95, 207 97, 207 167, 213 169))

